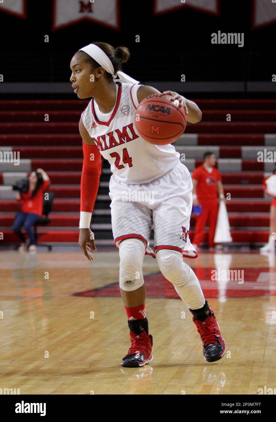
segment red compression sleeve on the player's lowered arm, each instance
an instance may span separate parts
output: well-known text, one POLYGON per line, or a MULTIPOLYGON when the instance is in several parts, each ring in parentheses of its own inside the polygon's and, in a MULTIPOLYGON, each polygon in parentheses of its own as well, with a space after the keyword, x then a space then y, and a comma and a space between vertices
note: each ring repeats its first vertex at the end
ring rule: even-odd
POLYGON ((93 212, 102 174, 102 155, 96 145, 83 142, 83 170, 80 181, 80 211, 93 212))

